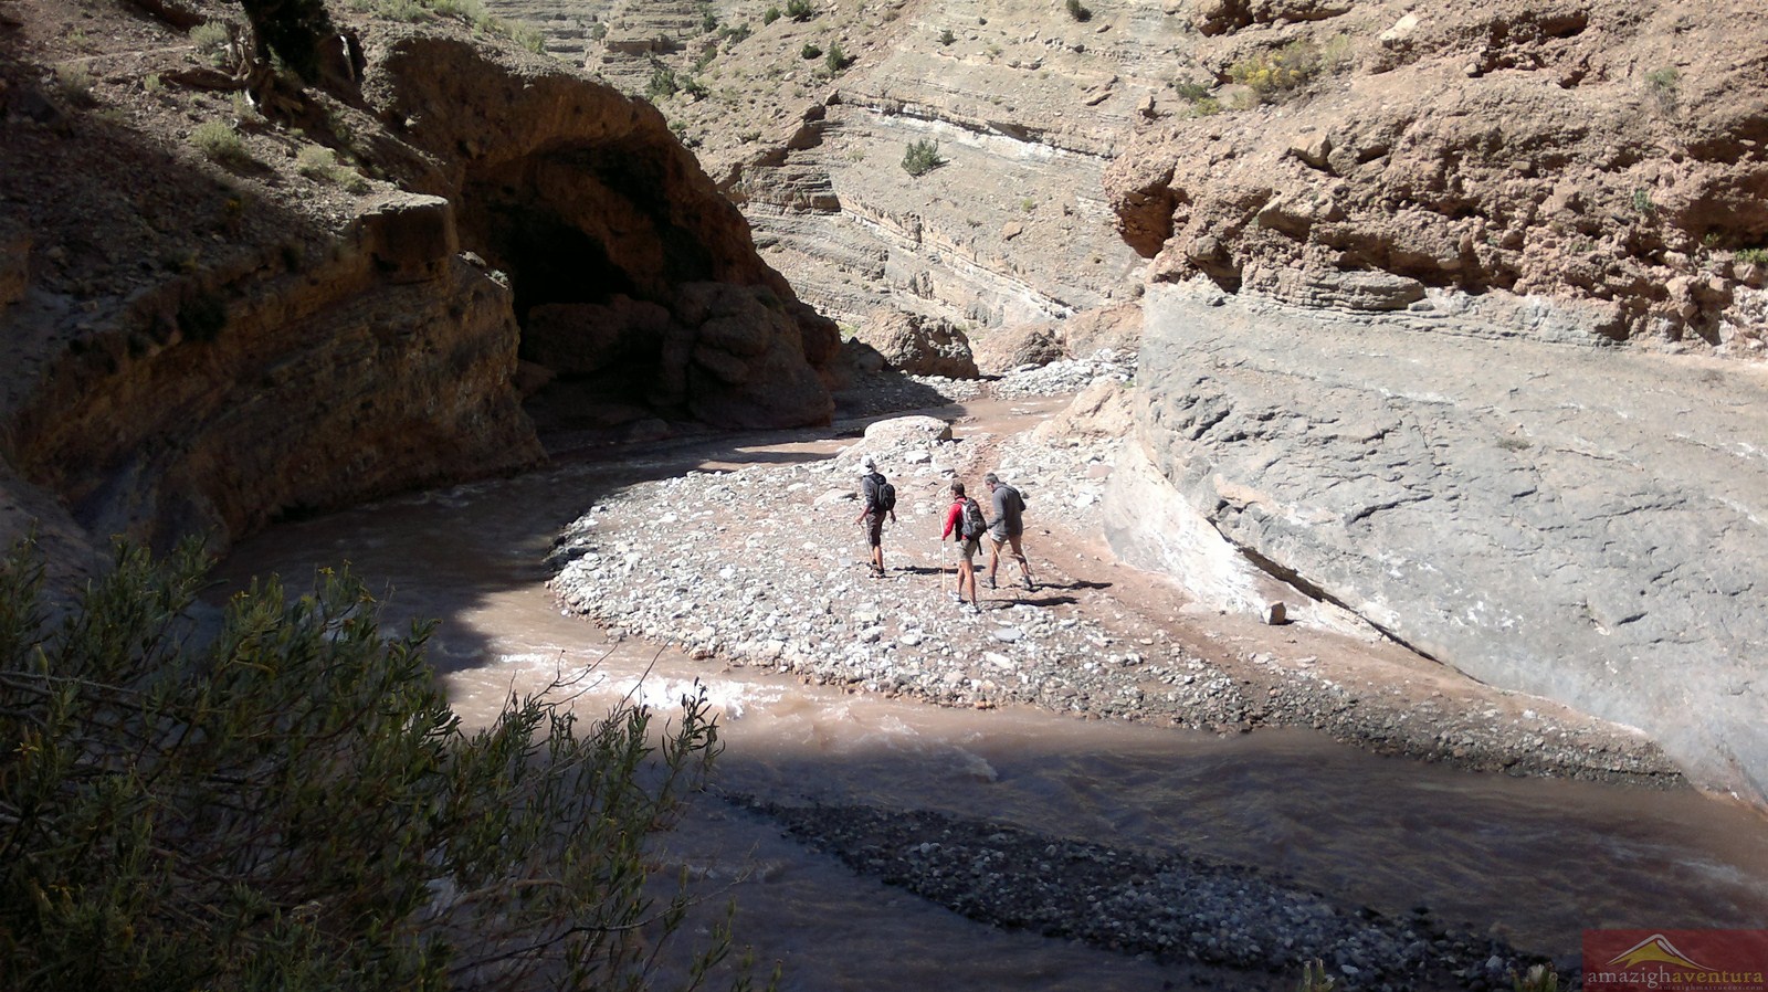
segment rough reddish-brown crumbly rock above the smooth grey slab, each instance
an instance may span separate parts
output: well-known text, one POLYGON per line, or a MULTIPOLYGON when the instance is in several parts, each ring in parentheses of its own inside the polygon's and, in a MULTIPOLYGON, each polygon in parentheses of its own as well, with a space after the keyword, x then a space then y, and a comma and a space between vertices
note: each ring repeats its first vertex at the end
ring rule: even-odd
POLYGON ((1593 301, 1588 332, 1754 355, 1768 32, 1747 4, 1199 2, 1192 113, 1107 186, 1155 278, 1301 306, 1593 301), (1239 110, 1236 110, 1239 108, 1239 110))

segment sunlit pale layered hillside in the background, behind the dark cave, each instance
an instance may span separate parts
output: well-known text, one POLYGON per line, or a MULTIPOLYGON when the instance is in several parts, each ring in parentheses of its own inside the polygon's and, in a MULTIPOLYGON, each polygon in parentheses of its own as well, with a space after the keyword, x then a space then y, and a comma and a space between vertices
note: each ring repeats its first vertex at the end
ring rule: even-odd
MULTIPOLYGON (((532 2, 493 7, 559 23, 532 2)), ((764 23, 766 7, 571 11, 603 30, 589 69, 656 99, 808 302, 856 329, 895 309, 981 338, 1133 299, 1142 262, 1100 177, 1165 87, 1181 18, 838 0, 764 23), (654 88, 658 69, 682 88, 654 88), (914 143, 939 164, 911 175, 914 143)))

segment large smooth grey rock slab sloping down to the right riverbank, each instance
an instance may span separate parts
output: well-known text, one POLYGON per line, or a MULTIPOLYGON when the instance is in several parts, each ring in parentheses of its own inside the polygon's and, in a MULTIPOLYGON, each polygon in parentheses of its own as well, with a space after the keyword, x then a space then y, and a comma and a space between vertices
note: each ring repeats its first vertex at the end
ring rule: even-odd
POLYGON ((1641 727, 1696 782, 1764 803, 1768 389, 1715 359, 1566 343, 1579 317, 1156 288, 1137 439, 1158 485, 1124 472, 1142 485, 1114 493, 1112 543, 1223 608, 1259 610, 1280 580, 1321 622, 1351 614, 1641 727))

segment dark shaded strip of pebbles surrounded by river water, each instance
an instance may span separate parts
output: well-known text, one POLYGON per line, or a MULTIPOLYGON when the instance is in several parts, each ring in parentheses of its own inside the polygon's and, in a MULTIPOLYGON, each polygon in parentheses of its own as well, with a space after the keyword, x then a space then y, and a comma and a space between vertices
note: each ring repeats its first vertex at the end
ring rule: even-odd
POLYGON ((1289 988, 1299 962, 1317 958, 1345 988, 1508 988, 1510 973, 1533 962, 1503 941, 1448 932, 1425 912, 1393 920, 1347 909, 1252 868, 935 812, 750 805, 854 870, 972 920, 1264 973, 1238 987, 1289 988))

